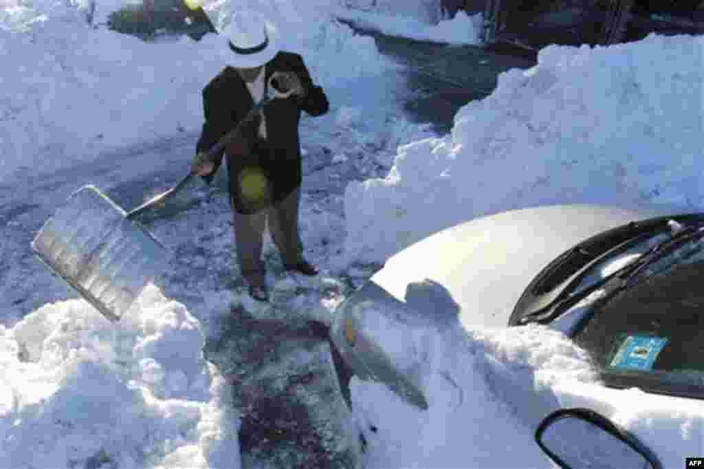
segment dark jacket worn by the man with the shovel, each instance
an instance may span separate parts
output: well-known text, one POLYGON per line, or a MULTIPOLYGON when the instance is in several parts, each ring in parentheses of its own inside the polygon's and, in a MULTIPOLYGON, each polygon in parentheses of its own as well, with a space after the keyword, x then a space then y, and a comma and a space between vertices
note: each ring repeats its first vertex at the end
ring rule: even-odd
MULTIPOLYGON (((313 85, 300 55, 279 52, 266 64, 265 82, 268 82, 275 71, 296 73, 306 90, 306 96, 289 96, 286 99, 270 101, 264 107, 267 139, 257 139, 252 151, 237 151, 234 149, 237 146, 230 146, 230 151, 225 152, 231 201, 240 213, 253 211, 242 203, 238 187, 238 176, 244 168, 256 165, 263 170, 272 190, 269 202, 280 201, 291 190, 301 185, 301 147, 298 141, 301 111, 315 116, 327 113, 329 108, 327 96, 321 87, 313 85)), ((252 106, 253 100, 244 80, 237 70, 225 67, 203 89, 203 113, 206 120, 196 151, 208 151, 220 137, 234 129, 246 117, 252 106)), ((221 163, 222 154, 218 155, 215 161, 215 171, 204 178, 208 184, 212 182, 221 163)))

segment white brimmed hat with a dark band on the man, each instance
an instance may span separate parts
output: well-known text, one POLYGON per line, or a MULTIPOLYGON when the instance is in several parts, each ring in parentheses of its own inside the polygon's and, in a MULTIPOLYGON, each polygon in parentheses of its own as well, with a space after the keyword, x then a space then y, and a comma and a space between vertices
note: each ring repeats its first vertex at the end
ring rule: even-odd
POLYGON ((233 67, 253 68, 270 61, 281 49, 279 30, 264 15, 253 11, 237 11, 222 30, 232 51, 233 67))

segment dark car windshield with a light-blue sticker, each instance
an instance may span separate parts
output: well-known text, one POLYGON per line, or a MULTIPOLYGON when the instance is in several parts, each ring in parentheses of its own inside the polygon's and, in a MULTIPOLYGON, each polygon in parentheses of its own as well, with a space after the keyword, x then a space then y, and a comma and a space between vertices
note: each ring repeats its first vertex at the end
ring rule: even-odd
POLYGON ((594 308, 574 333, 605 373, 634 377, 630 385, 672 394, 680 384, 693 385, 700 394, 688 394, 704 397, 703 237, 698 232, 648 263, 631 286, 594 308), (645 381, 637 380, 645 375, 645 381))

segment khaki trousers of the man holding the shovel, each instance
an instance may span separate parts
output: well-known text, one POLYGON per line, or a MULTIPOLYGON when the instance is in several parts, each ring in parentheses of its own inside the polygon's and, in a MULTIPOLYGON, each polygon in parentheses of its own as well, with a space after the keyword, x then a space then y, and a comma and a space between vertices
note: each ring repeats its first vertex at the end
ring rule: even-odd
POLYGON ((298 203, 301 189, 296 188, 277 204, 244 215, 232 210, 237 261, 242 276, 250 285, 265 285, 265 265, 261 259, 264 230, 269 225, 272 240, 279 250, 284 267, 295 265, 303 254, 298 234, 298 203))

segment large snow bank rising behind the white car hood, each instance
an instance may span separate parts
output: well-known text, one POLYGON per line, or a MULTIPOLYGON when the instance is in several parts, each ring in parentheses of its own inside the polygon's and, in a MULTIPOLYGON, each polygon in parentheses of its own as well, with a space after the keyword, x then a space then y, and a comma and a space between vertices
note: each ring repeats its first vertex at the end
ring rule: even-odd
POLYGON ((385 179, 348 185, 347 256, 384 262, 463 220, 538 204, 702 208, 703 45, 542 49, 461 108, 451 135, 402 146, 385 179))

